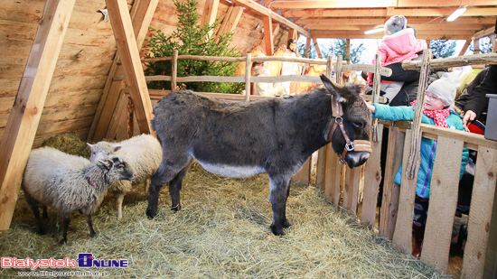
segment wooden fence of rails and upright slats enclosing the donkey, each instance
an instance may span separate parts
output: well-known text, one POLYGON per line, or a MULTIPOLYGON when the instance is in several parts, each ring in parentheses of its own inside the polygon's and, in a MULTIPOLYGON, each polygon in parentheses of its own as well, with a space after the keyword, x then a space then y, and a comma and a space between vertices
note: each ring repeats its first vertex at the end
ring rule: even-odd
MULTIPOLYGON (((428 52, 428 53, 431 53, 428 52)), ((435 68, 446 68, 454 66, 464 66, 481 63, 497 63, 495 54, 483 54, 474 56, 462 56, 458 59, 430 60, 431 54, 425 54, 422 61, 404 62, 406 69, 421 69, 420 90, 418 92, 419 101, 424 100, 424 93, 427 84, 427 72, 431 65, 435 68), (423 74, 424 73, 424 74, 423 74)), ((327 65, 328 77, 331 77, 331 70, 334 67, 337 82, 341 83, 342 71, 346 70, 366 70, 375 72, 377 79, 374 82, 372 98, 365 97, 368 101, 378 102, 380 93, 380 74, 389 76, 391 71, 382 69, 376 65, 342 65, 342 57, 333 63, 328 60, 294 59, 285 57, 255 57, 250 54, 246 58, 220 58, 201 56, 178 56, 155 58, 142 60, 150 62, 156 60, 173 60, 173 76, 146 77, 146 80, 170 80, 172 88, 176 87, 176 82, 187 81, 217 81, 217 82, 245 82, 247 94, 229 95, 219 93, 204 93, 214 98, 224 98, 231 100, 250 100, 264 98, 250 96, 250 82, 282 82, 282 81, 305 81, 322 83, 318 77, 310 76, 284 76, 284 77, 250 77, 250 67, 253 61, 279 60, 295 61, 314 64, 327 65), (177 78, 174 67, 175 60, 219 60, 219 61, 246 61, 247 75, 245 77, 185 77, 177 78), (380 74, 379 74, 380 73, 380 74)), ((379 61, 380 59, 376 59, 379 61)), ((403 66, 404 66, 403 64, 403 66)), ((168 92, 163 90, 150 90, 153 102, 158 101, 168 92)), ((419 106, 420 107, 420 106, 419 106)), ((385 122, 374 120, 371 138, 373 141, 373 152, 370 159, 361 168, 350 169, 341 165, 331 144, 324 146, 318 152, 316 166, 316 187, 324 190, 325 195, 336 205, 357 212, 358 204, 362 201, 361 222, 375 226, 377 215, 377 200, 379 185, 383 175, 383 197, 380 206, 379 232, 381 236, 388 237, 392 244, 411 253, 412 238, 411 227, 413 219, 414 197, 416 193, 417 170, 420 161, 418 157, 413 157, 418 151, 421 136, 436 139, 437 155, 434 164, 430 209, 427 218, 426 237, 423 246, 421 260, 428 265, 435 266, 439 271, 446 273, 449 248, 452 236, 452 228, 455 216, 458 181, 463 148, 478 151, 478 163, 474 177, 474 190, 471 201, 471 213, 469 215, 468 238, 464 249, 463 278, 483 278, 493 273, 495 264, 495 247, 488 246, 489 236, 497 234, 497 228, 492 220, 493 200, 497 182, 497 142, 484 139, 483 135, 474 135, 461 131, 440 128, 420 123, 421 111, 416 112, 417 117, 411 122, 385 122), (383 129, 389 130, 389 138, 381 138, 383 129), (381 150, 382 141, 388 141, 387 150, 381 150), (417 147, 417 148, 416 148, 417 147), (387 153, 385 173, 381 173, 380 154, 387 153), (410 159, 413 157, 414 159, 410 159), (409 163, 410 162, 410 163, 409 163), (411 165, 412 175, 403 177, 402 187, 393 182, 400 165, 411 165), (487 252, 487 247, 489 251, 487 252), (489 260, 490 258, 490 260, 489 260), (485 264, 485 260, 487 263, 485 264)), ((295 175, 294 180, 308 183, 311 173, 311 163, 308 160, 301 172, 295 175)), ((493 209, 495 211, 495 209, 493 209)), ((495 218, 495 217, 494 217, 495 218)))

